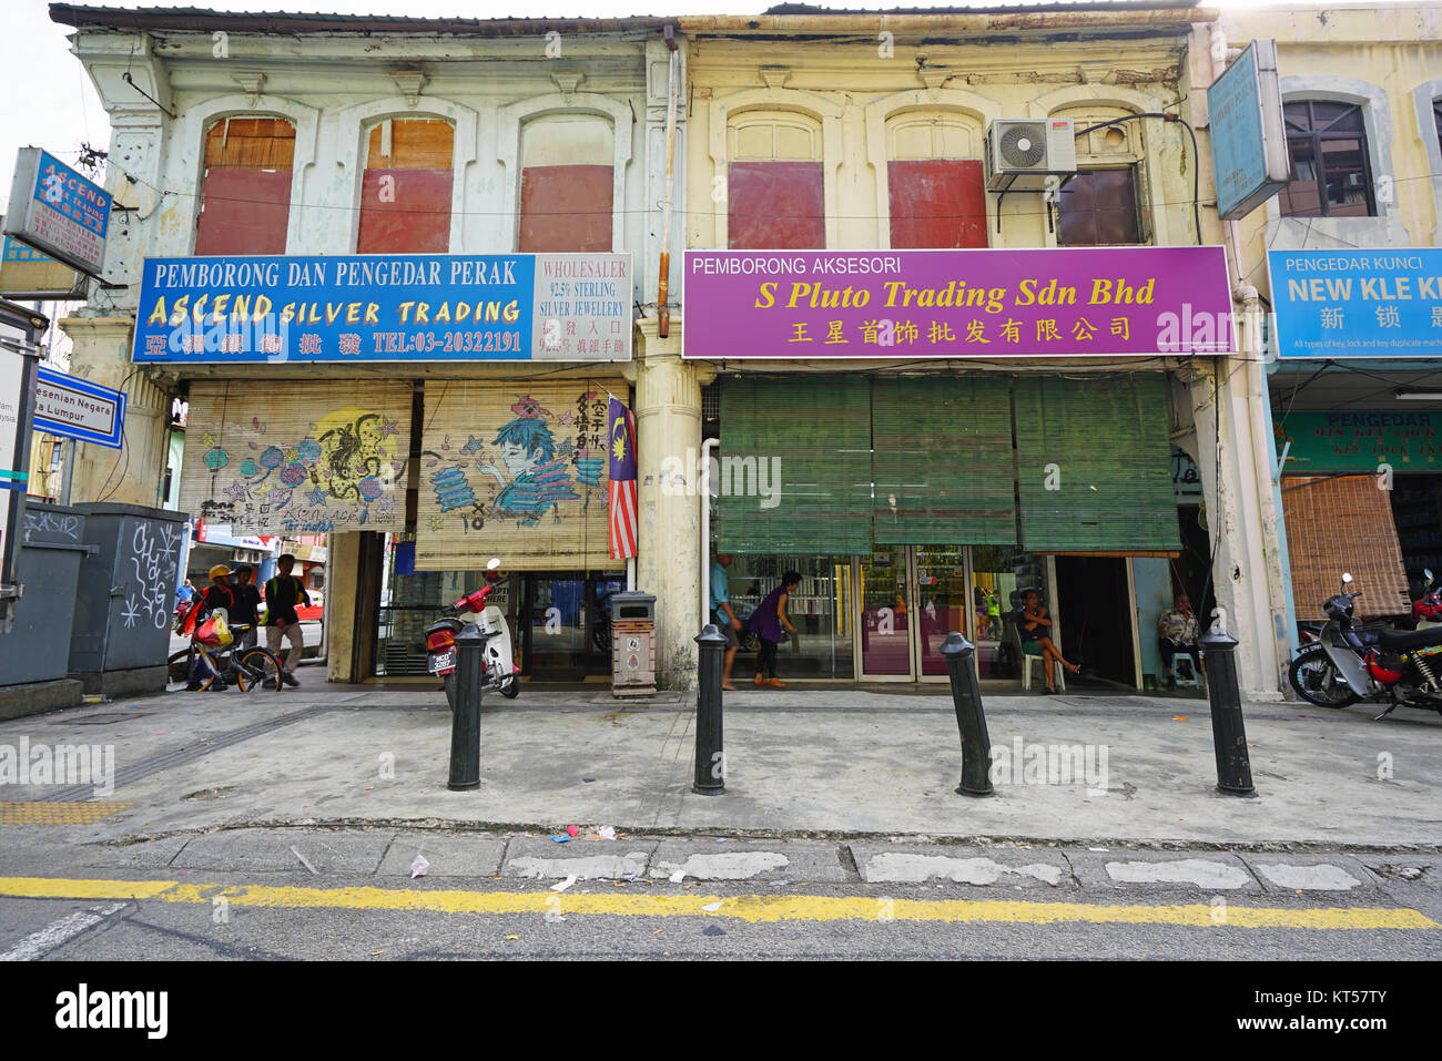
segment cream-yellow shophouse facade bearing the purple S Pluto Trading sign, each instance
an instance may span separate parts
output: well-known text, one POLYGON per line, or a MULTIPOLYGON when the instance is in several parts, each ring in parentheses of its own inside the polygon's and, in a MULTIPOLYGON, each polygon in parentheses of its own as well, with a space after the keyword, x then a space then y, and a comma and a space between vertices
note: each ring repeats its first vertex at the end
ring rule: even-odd
MULTIPOLYGON (((1244 688, 1276 695, 1286 637, 1273 497, 1257 487, 1269 425, 1255 329, 1178 352, 1158 333, 1168 307, 1089 297, 1125 272, 1123 248, 1145 275, 1210 247, 1195 316, 1213 278, 1224 316, 1256 320, 1211 185, 1213 19, 681 19, 685 346, 718 372, 712 535, 735 555, 743 611, 784 571, 803 577, 789 676, 945 680, 939 644, 963 630, 982 678, 1014 680, 1008 616, 1037 588, 1064 653, 1144 688, 1161 675, 1156 621, 1188 592, 1198 611, 1224 611, 1244 688), (1197 131, 1200 159, 1187 125, 1162 115, 1197 131), (1074 176, 1050 195, 989 189, 986 140, 1009 120, 1070 120, 1074 176), (1043 303, 1047 277, 1086 274, 1080 317, 1025 316, 1022 261, 1043 303), (738 271, 750 287, 731 283, 738 271), (859 316, 852 285, 871 297, 859 316), (963 307, 957 290, 981 297, 963 307), (724 311, 712 297, 730 298, 724 311), (734 342, 715 327, 728 314, 734 342), (890 350, 878 326, 894 329, 890 350), (1151 339, 1126 345, 1128 327, 1151 339)), ((1190 313, 1181 301, 1169 308, 1190 313)))

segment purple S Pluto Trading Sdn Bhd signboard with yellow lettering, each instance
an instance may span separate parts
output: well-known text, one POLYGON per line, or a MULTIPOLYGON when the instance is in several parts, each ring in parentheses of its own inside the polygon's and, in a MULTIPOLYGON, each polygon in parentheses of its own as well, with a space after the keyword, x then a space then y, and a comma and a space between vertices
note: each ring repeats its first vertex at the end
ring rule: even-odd
POLYGON ((1220 247, 686 251, 685 358, 1231 353, 1220 247))

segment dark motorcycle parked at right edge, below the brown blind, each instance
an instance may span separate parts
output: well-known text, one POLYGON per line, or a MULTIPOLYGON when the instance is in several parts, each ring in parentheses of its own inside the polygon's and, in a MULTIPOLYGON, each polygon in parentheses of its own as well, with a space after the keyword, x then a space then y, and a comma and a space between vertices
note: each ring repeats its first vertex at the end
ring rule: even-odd
POLYGON ((1288 676, 1308 703, 1345 708, 1361 699, 1386 702, 1386 718, 1400 706, 1442 714, 1442 627, 1416 631, 1379 630, 1364 639, 1353 617, 1361 591, 1347 592, 1353 577, 1343 575, 1343 592, 1322 604, 1327 624, 1314 644, 1302 649, 1288 676), (1386 698, 1386 699, 1383 699, 1386 698))

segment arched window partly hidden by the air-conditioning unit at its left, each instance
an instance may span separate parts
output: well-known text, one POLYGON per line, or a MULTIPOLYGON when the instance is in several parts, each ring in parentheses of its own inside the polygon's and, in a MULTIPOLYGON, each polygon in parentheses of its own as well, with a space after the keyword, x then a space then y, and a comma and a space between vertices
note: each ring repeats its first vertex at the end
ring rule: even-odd
POLYGON ((1142 209, 1145 180, 1142 123, 1123 121, 1092 128, 1129 114, 1122 108, 1071 107, 1051 117, 1071 118, 1077 137, 1077 174, 1057 196, 1057 244, 1060 247, 1110 247, 1146 242, 1142 209))

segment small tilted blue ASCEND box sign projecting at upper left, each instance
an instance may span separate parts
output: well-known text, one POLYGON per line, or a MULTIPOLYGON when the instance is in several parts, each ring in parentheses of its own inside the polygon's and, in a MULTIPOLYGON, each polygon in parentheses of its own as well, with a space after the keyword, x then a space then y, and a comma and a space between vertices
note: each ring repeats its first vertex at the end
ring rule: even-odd
POLYGON ((98 277, 105 264, 111 196, 39 147, 22 147, 4 234, 98 277))

